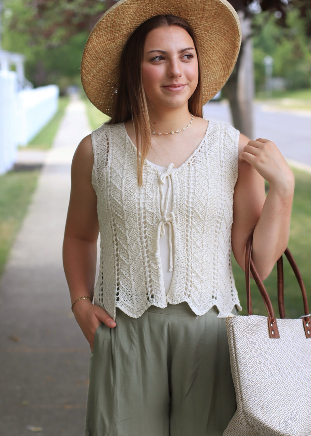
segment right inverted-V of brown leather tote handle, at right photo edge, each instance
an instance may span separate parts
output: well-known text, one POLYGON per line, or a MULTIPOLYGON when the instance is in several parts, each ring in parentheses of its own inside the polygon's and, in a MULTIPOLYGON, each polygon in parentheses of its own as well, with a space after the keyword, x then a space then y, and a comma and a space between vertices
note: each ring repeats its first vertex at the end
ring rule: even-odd
MULTIPOLYGON (((294 271, 294 274, 296 276, 298 285, 301 290, 302 294, 302 300, 304 303, 304 316, 301 317, 303 319, 304 323, 304 331, 306 334, 306 337, 311 337, 311 316, 309 312, 309 306, 308 306, 308 298, 306 293, 306 288, 304 286, 304 281, 301 276, 301 272, 299 271, 299 268, 297 266, 297 263, 294 260, 293 255, 287 248, 284 251, 285 256, 287 257, 287 260, 289 264, 291 265, 291 268, 294 271)), ((286 318, 285 316, 285 306, 284 306, 284 269, 283 269, 283 256, 280 257, 277 261, 277 301, 279 305, 279 312, 281 318, 286 318)))

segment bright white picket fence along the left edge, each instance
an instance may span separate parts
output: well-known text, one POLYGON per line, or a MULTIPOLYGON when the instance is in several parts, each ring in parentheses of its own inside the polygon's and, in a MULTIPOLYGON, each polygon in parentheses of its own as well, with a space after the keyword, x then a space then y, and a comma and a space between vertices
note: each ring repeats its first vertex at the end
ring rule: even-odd
POLYGON ((0 174, 14 166, 26 145, 57 111, 56 85, 17 91, 17 73, 0 70, 0 174))

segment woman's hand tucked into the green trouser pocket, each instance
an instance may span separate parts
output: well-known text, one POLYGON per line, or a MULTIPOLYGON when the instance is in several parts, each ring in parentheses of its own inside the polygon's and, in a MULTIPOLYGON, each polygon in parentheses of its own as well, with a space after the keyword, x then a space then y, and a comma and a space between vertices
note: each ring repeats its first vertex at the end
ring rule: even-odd
POLYGON ((91 351, 93 351, 95 331, 101 322, 109 328, 117 325, 102 307, 96 306, 89 300, 78 301, 72 311, 82 333, 90 344, 91 351))

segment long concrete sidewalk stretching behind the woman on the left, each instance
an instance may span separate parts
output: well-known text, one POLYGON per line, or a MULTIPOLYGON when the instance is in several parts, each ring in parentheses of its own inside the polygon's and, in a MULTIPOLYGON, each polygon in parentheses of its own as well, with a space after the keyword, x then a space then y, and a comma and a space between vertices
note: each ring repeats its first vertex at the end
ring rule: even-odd
POLYGON ((90 131, 84 104, 71 101, 0 282, 1 436, 84 434, 89 346, 61 246, 72 155, 90 131))

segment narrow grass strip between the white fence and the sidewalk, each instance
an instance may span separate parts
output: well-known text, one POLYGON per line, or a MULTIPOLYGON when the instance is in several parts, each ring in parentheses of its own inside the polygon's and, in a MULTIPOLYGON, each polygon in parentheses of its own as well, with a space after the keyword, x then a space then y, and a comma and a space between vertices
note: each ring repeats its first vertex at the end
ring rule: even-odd
MULTIPOLYGON (((68 105, 69 97, 60 97, 58 100, 58 109, 54 117, 51 119, 43 129, 34 137, 30 143, 27 144, 27 148, 36 148, 40 150, 48 150, 51 148, 54 137, 57 133, 61 120, 64 116, 66 106, 68 105)), ((24 147, 22 147, 24 148, 24 147)))

